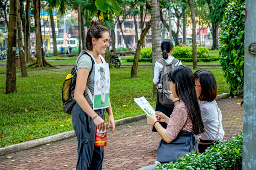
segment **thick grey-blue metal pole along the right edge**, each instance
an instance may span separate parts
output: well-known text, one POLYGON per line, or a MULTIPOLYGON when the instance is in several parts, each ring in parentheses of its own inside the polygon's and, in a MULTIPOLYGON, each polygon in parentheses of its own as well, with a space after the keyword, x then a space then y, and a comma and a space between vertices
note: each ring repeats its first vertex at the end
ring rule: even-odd
POLYGON ((256 11, 255 0, 245 2, 243 170, 256 169, 256 11))

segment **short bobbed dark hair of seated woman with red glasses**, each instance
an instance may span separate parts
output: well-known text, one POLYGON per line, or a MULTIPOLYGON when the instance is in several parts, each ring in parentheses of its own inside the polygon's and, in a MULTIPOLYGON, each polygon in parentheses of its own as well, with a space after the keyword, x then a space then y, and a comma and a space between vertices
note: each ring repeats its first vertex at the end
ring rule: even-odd
POLYGON ((198 70, 194 72, 195 80, 199 79, 202 92, 198 97, 201 101, 211 102, 217 96, 217 84, 214 75, 209 70, 198 70))

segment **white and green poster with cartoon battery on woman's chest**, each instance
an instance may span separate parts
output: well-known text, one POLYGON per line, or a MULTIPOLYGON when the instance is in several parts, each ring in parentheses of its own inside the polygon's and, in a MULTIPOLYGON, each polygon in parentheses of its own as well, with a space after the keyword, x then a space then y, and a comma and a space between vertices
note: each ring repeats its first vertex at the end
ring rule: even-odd
POLYGON ((109 107, 109 87, 110 75, 109 65, 95 64, 94 65, 94 93, 93 93, 93 110, 109 107))

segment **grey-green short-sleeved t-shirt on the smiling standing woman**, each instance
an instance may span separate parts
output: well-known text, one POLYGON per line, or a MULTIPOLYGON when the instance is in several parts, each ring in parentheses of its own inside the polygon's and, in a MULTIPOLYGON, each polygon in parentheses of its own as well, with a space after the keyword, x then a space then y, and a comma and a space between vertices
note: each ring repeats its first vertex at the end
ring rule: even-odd
MULTIPOLYGON (((78 60, 77 70, 80 69, 80 68, 86 68, 89 71, 91 71, 91 69, 92 69, 91 75, 88 77, 86 86, 88 87, 88 89, 91 91, 91 93, 93 95, 93 92, 94 92, 94 74, 95 73, 94 73, 94 67, 92 67, 92 64, 93 63, 92 63, 91 57, 87 54, 83 54, 78 60)), ((84 91, 84 97, 86 98, 86 100, 88 101, 90 106, 92 107, 92 101, 90 100, 86 91, 84 91)))

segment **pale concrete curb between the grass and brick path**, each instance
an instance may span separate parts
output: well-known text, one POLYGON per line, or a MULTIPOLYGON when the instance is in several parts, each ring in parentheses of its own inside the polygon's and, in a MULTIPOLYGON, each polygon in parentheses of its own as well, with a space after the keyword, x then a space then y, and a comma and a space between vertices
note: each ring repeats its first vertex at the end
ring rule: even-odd
MULTIPOLYGON (((221 95, 217 95, 215 100, 228 98, 229 95, 230 95, 230 93, 224 93, 224 94, 221 94, 221 95)), ((126 118, 123 118, 123 119, 115 120, 115 125, 119 126, 119 125, 123 125, 123 124, 126 124, 126 123, 135 122, 137 120, 142 120, 142 119, 145 119, 145 118, 146 118, 145 113, 141 114, 141 115, 133 116, 133 117, 126 117, 126 118)), ((23 150, 26 150, 26 149, 35 148, 35 147, 38 147, 38 146, 41 146, 41 145, 45 145, 47 143, 56 142, 56 141, 69 139, 69 138, 73 138, 73 137, 76 137, 76 133, 74 132, 74 130, 71 130, 71 131, 59 133, 59 134, 56 134, 56 135, 47 136, 47 137, 40 138, 40 139, 35 139, 35 140, 32 140, 32 141, 28 141, 28 142, 9 145, 9 146, 0 148, 0 156, 4 156, 4 155, 14 153, 14 152, 23 151, 23 150)))

